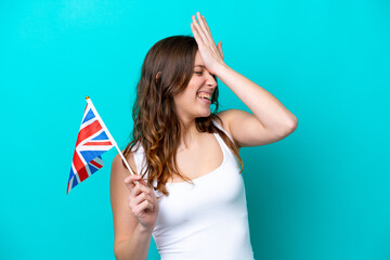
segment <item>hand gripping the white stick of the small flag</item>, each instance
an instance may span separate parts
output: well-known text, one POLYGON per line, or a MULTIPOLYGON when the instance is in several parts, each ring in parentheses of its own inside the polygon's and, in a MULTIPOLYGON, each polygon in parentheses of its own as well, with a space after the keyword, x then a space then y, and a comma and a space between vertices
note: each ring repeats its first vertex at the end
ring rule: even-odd
POLYGON ((139 174, 132 174, 125 179, 126 186, 130 190, 129 207, 140 224, 153 231, 158 216, 158 202, 154 191, 139 174), (139 184, 135 184, 138 181, 139 184))

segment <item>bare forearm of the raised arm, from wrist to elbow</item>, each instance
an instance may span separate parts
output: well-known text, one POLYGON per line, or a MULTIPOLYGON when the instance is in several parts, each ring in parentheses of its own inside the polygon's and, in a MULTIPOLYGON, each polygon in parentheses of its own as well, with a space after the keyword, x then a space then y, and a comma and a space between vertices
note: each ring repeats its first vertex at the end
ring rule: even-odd
POLYGON ((298 123, 297 117, 275 96, 227 65, 221 65, 216 76, 248 106, 265 128, 277 131, 281 127, 298 123))

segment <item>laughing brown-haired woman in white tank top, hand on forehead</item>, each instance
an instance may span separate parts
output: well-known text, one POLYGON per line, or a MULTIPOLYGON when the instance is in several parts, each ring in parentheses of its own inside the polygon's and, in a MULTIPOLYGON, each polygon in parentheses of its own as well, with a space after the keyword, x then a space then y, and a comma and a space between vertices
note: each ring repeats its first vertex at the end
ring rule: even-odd
POLYGON ((164 260, 253 259, 238 151, 276 142, 298 123, 223 62, 222 42, 216 46, 205 17, 196 16, 194 38, 160 40, 142 66, 133 141, 123 151, 135 174, 119 156, 112 168, 117 259, 146 259, 152 235, 164 260), (216 113, 216 77, 253 115, 216 113))

